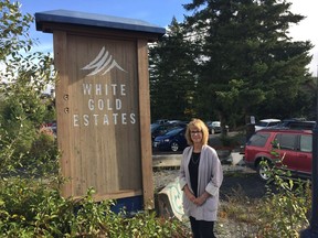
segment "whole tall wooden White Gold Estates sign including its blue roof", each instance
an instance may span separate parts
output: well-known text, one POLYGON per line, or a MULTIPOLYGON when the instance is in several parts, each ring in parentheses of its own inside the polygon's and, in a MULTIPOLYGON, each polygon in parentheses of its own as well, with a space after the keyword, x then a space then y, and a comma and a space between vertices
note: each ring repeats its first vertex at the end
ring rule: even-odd
POLYGON ((132 197, 152 208, 147 44, 165 29, 64 10, 35 13, 35 21, 53 33, 62 195, 94 187, 96 201, 132 197))

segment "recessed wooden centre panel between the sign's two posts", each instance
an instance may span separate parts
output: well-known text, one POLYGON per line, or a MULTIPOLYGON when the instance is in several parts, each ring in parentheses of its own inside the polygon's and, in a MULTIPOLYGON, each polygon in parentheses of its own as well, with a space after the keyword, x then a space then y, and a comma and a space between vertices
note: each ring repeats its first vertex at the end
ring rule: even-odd
POLYGON ((123 190, 142 188, 140 125, 120 121, 121 112, 137 113, 139 109, 139 99, 136 97, 138 94, 136 58, 136 41, 114 41, 103 37, 92 41, 89 36, 67 34, 70 112, 72 116, 78 116, 78 126, 73 125, 68 134, 71 155, 76 161, 72 174, 74 196, 86 194, 88 187, 95 187, 100 196, 123 190), (96 57, 104 46, 126 72, 112 71, 105 75, 87 77, 88 73, 78 68, 96 57), (89 95, 87 89, 84 94, 84 84, 92 86, 89 95), (96 90, 97 85, 100 90, 96 90), (112 85, 116 87, 113 88, 112 85), (120 95, 119 85, 126 86, 125 95, 120 95), (94 109, 88 108, 89 100, 94 101, 94 109), (121 102, 118 110, 114 108, 115 100, 121 102), (98 108, 100 101, 104 101, 103 108, 98 108), (110 101, 110 106, 107 101, 110 101), (119 115, 117 123, 113 121, 113 113, 119 115), (83 120, 84 115, 89 117, 87 125, 83 120), (109 116, 109 125, 103 125, 105 115, 109 116))

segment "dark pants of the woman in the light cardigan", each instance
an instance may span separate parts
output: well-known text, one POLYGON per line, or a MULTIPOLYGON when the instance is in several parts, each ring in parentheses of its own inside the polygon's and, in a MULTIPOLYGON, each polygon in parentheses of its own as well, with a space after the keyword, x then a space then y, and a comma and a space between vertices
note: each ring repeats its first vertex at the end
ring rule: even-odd
POLYGON ((193 238, 215 238, 213 234, 214 221, 195 220, 190 216, 193 238))

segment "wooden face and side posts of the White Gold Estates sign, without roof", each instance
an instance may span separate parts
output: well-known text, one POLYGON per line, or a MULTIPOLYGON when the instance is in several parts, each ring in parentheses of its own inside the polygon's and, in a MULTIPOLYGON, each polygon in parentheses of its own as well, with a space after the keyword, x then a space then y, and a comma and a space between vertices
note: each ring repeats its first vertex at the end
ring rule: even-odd
POLYGON ((62 195, 83 196, 93 186, 99 198, 144 195, 144 207, 152 209, 155 198, 147 40, 115 41, 96 37, 93 44, 85 34, 54 31, 53 36, 55 66, 59 71, 57 141, 62 150, 62 173, 70 178, 63 184, 62 195), (87 73, 81 68, 105 45, 126 72, 112 71, 109 75, 87 77, 87 73), (126 95, 94 94, 88 97, 83 91, 84 83, 125 84, 126 95), (95 102, 120 99, 123 107, 118 111, 88 110, 88 99, 95 102), (83 115, 92 117, 89 120, 93 123, 95 115, 102 117, 121 111, 136 112, 136 125, 83 125, 83 115), (82 120, 78 126, 74 126, 74 115, 78 115, 78 120, 82 120))

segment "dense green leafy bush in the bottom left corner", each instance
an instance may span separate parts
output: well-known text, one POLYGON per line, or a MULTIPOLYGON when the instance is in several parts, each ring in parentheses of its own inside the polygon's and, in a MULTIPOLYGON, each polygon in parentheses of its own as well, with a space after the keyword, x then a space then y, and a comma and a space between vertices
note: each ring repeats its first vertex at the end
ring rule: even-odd
POLYGON ((21 231, 33 237, 61 236, 64 223, 72 220, 72 203, 63 199, 57 190, 50 188, 50 183, 11 177, 2 180, 0 186, 3 237, 20 237, 21 231))

